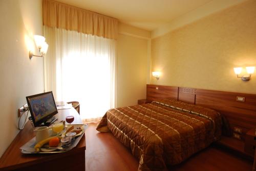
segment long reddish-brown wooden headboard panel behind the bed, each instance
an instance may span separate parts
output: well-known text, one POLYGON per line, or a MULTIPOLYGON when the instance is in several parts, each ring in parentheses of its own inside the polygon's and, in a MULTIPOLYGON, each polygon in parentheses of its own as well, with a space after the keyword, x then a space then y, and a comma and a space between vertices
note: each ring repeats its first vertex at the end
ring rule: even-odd
POLYGON ((147 85, 147 100, 162 98, 172 98, 220 112, 226 116, 231 130, 234 127, 242 129, 242 139, 246 132, 256 128, 256 94, 147 85), (239 102, 237 97, 244 97, 245 101, 239 102))

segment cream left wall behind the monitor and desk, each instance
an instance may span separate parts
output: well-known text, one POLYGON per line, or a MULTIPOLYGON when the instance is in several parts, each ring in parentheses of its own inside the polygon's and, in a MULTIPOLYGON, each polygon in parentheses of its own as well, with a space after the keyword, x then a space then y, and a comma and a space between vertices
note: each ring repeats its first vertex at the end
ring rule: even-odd
POLYGON ((41 0, 0 1, 0 156, 18 133, 17 109, 44 91, 42 58, 29 59, 33 34, 42 35, 41 0))

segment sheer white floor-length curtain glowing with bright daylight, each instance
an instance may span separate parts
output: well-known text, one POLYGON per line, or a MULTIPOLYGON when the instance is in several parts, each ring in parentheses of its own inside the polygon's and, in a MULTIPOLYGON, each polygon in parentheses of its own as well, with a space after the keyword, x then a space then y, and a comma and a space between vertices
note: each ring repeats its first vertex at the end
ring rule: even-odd
POLYGON ((56 101, 79 101, 83 121, 115 107, 115 40, 44 26, 45 88, 56 101))

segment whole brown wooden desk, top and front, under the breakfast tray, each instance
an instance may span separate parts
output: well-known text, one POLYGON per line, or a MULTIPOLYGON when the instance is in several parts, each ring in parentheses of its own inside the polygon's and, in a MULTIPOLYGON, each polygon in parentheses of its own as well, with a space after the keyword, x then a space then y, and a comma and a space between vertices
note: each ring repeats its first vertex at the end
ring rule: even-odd
MULTIPOLYGON (((58 121, 65 120, 66 116, 75 117, 72 124, 81 124, 82 120, 77 111, 72 109, 58 110, 55 115, 58 121)), ((30 121, 14 138, 8 149, 0 159, 0 170, 86 170, 86 136, 82 136, 77 146, 58 154, 22 154, 20 146, 35 136, 30 121)))

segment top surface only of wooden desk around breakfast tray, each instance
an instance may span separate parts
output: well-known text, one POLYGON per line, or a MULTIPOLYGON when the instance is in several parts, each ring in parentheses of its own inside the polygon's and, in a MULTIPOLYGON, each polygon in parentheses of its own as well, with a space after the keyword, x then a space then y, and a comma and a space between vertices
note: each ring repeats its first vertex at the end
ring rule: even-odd
MULTIPOLYGON (((72 124, 81 124, 82 120, 77 111, 72 109, 58 110, 55 115, 58 121, 66 120, 66 116, 73 115, 75 119, 72 124)), ((65 157, 67 155, 72 155, 74 153, 86 150, 86 137, 85 134, 82 136, 81 140, 77 146, 66 153, 58 154, 22 154, 20 152, 20 147, 28 142, 31 138, 35 136, 32 125, 30 121, 24 127, 24 130, 20 131, 14 138, 12 143, 9 145, 8 149, 5 151, 0 159, 0 170, 16 169, 19 167, 29 166, 31 164, 41 163, 49 160, 53 160, 60 157, 65 157)))

